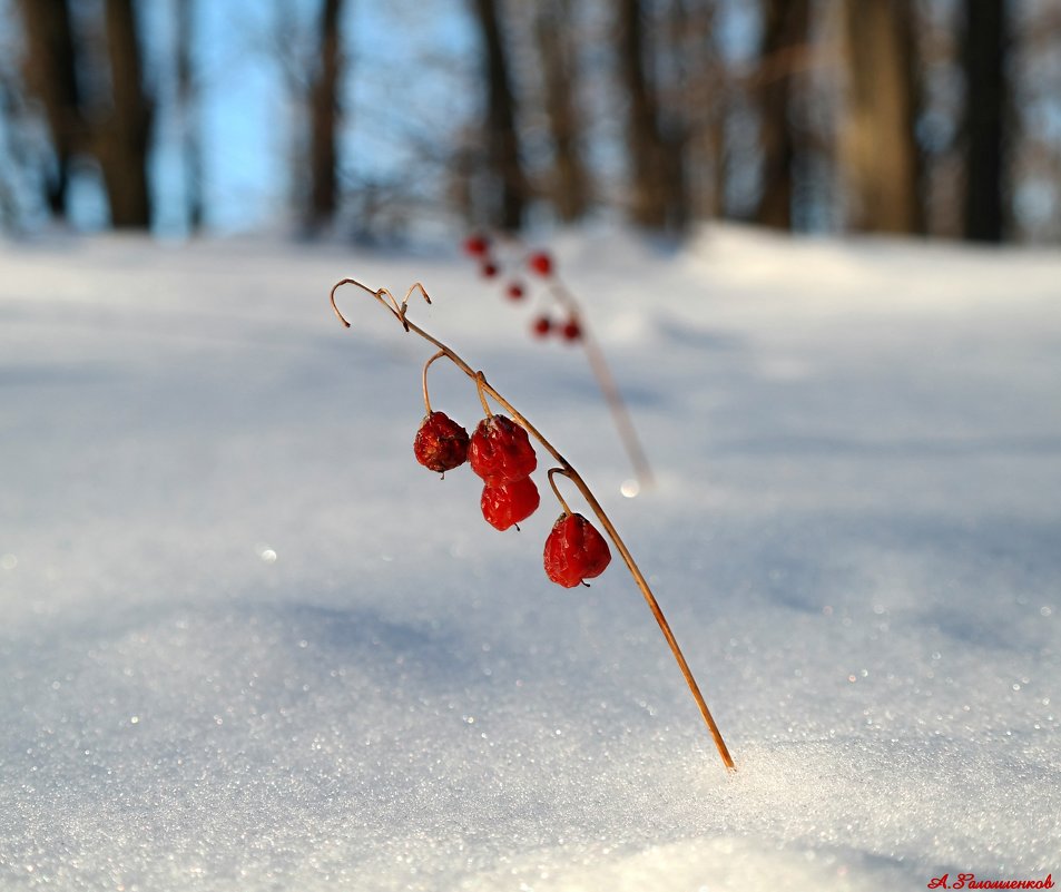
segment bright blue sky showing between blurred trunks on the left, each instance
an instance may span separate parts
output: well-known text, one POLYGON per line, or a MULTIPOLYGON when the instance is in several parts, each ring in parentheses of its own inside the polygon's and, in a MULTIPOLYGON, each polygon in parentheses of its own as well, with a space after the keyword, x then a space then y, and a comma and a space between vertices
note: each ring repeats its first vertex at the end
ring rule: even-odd
MULTIPOLYGON (((197 124, 204 140, 207 222, 222 232, 261 226, 282 215, 288 205, 294 150, 291 125, 297 110, 288 99, 278 63, 277 7, 250 0, 198 6, 200 45, 196 62, 203 72, 204 108, 197 124)), ((305 52, 302 39, 305 29, 313 27, 318 3, 294 0, 288 7, 299 32, 289 36, 284 49, 305 52)), ((382 111, 399 120, 404 114, 424 115, 428 109, 442 111, 454 105, 459 114, 470 112, 472 102, 468 99, 443 99, 453 90, 452 84, 445 82, 450 72, 441 62, 417 77, 410 77, 407 67, 410 57, 425 57, 422 49, 430 46, 448 66, 450 60, 455 62, 453 70, 459 76, 475 49, 469 26, 456 0, 438 0, 419 9, 404 0, 353 0, 346 4, 342 156, 355 159, 362 174, 393 175, 404 155, 393 134, 369 138, 371 121, 382 111), (400 112, 396 116, 395 109, 400 112)), ((151 4, 145 33, 156 59, 164 57, 161 50, 173 40, 173 32, 169 4, 151 4)), ((171 71, 160 67, 155 70, 171 94, 171 71)), ((179 121, 170 116, 161 126, 176 129, 179 121)), ((163 196, 158 226, 179 231, 181 160, 175 140, 160 140, 160 146, 155 161, 163 196)))

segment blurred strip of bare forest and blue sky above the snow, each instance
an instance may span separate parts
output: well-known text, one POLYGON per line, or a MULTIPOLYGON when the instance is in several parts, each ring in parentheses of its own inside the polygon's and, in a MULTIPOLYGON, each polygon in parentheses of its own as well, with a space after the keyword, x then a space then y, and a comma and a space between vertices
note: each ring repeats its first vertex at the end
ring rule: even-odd
POLYGON ((0 226, 1061 241, 1061 0, 0 0, 0 226))

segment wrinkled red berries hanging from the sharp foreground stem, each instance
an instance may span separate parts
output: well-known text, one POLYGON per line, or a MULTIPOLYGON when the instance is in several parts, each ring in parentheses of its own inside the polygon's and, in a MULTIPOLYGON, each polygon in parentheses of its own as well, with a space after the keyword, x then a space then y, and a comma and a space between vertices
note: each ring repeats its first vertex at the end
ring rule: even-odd
MULTIPOLYGON (((482 478, 482 516, 499 530, 519 529, 541 503, 531 473, 538 457, 527 431, 505 415, 488 415, 475 432, 468 431, 444 412, 429 412, 413 441, 416 461, 438 473, 465 461, 482 478)), ((611 561, 605 538, 581 514, 564 511, 546 540, 546 575, 557 585, 573 588, 600 576, 611 561)))

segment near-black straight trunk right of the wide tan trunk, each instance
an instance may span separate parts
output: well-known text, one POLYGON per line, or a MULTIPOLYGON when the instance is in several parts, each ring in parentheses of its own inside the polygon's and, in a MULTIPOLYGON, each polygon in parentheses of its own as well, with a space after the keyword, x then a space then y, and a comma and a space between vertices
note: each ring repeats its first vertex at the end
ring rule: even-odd
POLYGON ((1005 232, 1005 0, 965 0, 964 235, 1001 242, 1005 232))

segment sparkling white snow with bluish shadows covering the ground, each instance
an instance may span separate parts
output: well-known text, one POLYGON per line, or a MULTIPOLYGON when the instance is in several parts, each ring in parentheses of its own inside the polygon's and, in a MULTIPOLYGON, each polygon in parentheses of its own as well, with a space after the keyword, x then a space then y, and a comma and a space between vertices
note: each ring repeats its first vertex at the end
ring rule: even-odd
MULTIPOLYGON (((1061 258, 711 229, 557 245, 577 350, 454 257, 0 246, 0 889, 900 890, 1061 881, 1061 258), (431 354, 579 468, 541 571, 417 465, 431 354), (573 496, 573 492, 571 493, 573 496)), ((432 402, 471 428, 441 363, 432 402)))

